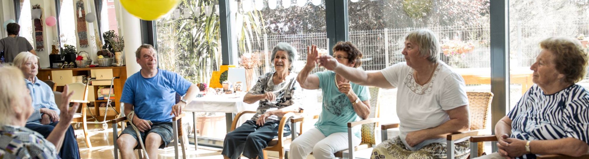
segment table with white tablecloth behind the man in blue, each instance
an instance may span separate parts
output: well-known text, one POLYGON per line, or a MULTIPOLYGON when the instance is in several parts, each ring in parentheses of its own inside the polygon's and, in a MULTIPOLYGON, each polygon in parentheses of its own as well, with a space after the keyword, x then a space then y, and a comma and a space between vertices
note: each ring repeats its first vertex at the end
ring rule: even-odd
MULTIPOLYGON (((231 131, 231 122, 235 114, 241 111, 256 111, 258 102, 247 104, 243 102, 245 92, 238 94, 222 94, 222 95, 205 95, 204 97, 194 98, 189 104, 184 107, 183 111, 192 112, 194 141, 197 143, 196 133, 196 112, 225 112, 225 122, 227 132, 231 131)), ((196 149, 196 144, 195 144, 196 149)))

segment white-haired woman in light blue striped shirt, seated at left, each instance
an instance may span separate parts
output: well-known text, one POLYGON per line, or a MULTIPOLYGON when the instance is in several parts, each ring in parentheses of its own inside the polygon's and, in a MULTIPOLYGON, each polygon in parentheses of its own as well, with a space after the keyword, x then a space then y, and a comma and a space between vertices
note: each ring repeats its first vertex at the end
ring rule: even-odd
MULTIPOLYGON (((55 104, 51 87, 37 78, 39 57, 31 52, 21 52, 16 55, 13 64, 21 69, 25 77, 25 85, 32 98, 31 108, 34 111, 28 118, 25 127, 37 131, 47 138, 59 123, 61 111, 55 104)), ((75 140, 74 128, 71 126, 65 133, 63 148, 59 152, 59 156, 61 158, 80 158, 78 142, 75 140)))

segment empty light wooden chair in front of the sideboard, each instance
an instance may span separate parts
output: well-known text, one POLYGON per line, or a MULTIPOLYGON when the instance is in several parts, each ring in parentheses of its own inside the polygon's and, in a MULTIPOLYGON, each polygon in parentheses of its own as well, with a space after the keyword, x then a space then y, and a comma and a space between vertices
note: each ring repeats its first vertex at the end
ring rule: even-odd
MULTIPOLYGON (((88 85, 80 83, 80 82, 75 82, 75 83, 71 83, 71 84, 67 84, 68 85, 68 93, 75 91, 76 93, 72 95, 70 102, 79 102, 81 104, 81 113, 77 113, 74 115, 74 119, 72 120, 72 123, 82 123, 82 130, 84 130, 84 137, 86 140, 86 145, 88 146, 88 148, 92 148, 92 143, 90 142, 90 136, 88 136, 88 126, 86 123, 86 107, 87 103, 90 102, 88 101, 88 85)), ((54 92, 55 95, 55 92, 54 92)), ((59 93, 59 98, 57 97, 57 95, 55 95, 55 99, 60 99, 61 100, 61 93, 59 93)), ((57 100, 55 100, 55 103, 58 103, 57 100)))

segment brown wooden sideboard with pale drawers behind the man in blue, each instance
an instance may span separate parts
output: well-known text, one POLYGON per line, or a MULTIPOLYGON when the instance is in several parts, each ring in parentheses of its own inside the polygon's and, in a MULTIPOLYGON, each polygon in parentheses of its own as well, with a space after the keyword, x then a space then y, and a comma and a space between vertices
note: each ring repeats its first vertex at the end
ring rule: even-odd
MULTIPOLYGON (((114 88, 115 94, 115 109, 119 111, 121 94, 123 94, 123 87, 125 85, 125 81, 127 81, 127 67, 46 68, 39 69, 37 78, 39 78, 41 81, 54 81, 55 84, 57 84, 56 91, 61 92, 64 89, 64 85, 75 82, 74 77, 78 75, 91 75, 91 77, 95 77, 97 80, 111 80, 112 77, 119 77, 114 79, 112 86, 114 88)), ((92 111, 92 114, 97 117, 98 121, 102 121, 105 115, 104 110, 99 112, 100 108, 98 108, 98 105, 100 105, 101 102, 107 102, 107 100, 97 100, 97 91, 98 86, 100 85, 110 85, 110 81, 95 81, 92 82, 90 87, 88 87, 88 101, 94 103, 94 110, 92 111)), ((112 120, 114 118, 114 115, 107 115, 107 120, 112 120)))

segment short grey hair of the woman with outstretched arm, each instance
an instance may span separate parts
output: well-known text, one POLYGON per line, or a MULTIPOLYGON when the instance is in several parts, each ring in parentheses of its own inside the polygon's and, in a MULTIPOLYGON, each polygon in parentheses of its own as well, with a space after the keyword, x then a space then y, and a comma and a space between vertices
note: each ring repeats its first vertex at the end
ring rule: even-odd
POLYGON ((419 55, 428 57, 430 62, 439 60, 440 42, 434 32, 429 29, 416 29, 409 32, 405 40, 413 42, 419 46, 419 55))

